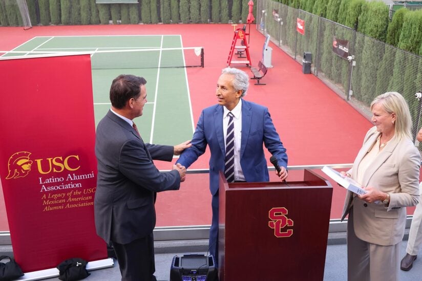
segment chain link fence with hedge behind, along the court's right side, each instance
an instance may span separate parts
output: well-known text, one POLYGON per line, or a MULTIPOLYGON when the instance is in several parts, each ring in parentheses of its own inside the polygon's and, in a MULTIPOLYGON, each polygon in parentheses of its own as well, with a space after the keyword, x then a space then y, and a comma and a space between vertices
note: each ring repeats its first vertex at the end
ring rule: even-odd
POLYGON ((258 1, 257 30, 269 34, 274 44, 301 64, 304 52, 310 52, 312 73, 369 120, 369 106, 376 96, 402 94, 412 115, 412 136, 419 145, 415 137, 422 126, 422 57, 271 0, 258 1), (297 31, 297 19, 304 21, 303 34, 297 31), (349 41, 349 59, 333 52, 334 36, 349 41))

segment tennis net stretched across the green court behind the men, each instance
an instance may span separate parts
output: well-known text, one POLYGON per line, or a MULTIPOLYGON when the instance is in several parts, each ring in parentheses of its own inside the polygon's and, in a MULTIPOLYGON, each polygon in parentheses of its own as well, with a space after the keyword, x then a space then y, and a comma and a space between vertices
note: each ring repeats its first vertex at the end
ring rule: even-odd
POLYGON ((92 69, 204 67, 202 47, 97 51, 92 69))

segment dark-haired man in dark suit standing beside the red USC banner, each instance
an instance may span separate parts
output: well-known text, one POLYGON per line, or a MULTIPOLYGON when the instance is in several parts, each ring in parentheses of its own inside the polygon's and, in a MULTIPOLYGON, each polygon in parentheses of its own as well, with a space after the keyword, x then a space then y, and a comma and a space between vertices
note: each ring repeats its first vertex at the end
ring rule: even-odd
POLYGON ((112 107, 97 126, 98 161, 94 211, 97 234, 113 242, 122 280, 156 280, 154 262, 156 192, 178 190, 186 168, 160 172, 154 160, 172 161, 189 147, 144 143, 132 119, 142 115, 146 80, 120 75, 110 89, 112 107))

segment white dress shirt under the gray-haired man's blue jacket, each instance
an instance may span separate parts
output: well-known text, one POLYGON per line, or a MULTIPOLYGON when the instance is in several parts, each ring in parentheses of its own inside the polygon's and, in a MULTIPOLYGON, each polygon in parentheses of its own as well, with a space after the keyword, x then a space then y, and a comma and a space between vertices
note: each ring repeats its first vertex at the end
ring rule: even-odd
MULTIPOLYGON (((230 111, 223 106, 223 133, 224 133, 224 147, 226 147, 228 116, 230 111)), ((231 111, 233 113, 233 123, 235 126, 235 181, 245 181, 242 167, 240 166, 240 141, 242 139, 242 99, 231 111)))

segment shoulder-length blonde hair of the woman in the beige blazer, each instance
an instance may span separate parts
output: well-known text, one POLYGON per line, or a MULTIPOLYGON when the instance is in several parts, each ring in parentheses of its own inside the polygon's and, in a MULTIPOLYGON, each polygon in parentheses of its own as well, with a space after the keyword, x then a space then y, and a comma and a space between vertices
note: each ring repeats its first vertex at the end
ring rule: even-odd
POLYGON ((412 139, 412 118, 405 98, 397 92, 387 92, 377 96, 371 103, 371 110, 379 104, 388 113, 395 113, 395 137, 412 139))

